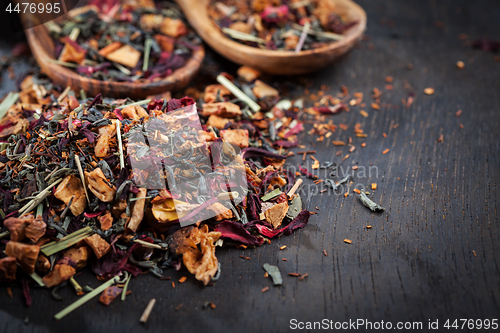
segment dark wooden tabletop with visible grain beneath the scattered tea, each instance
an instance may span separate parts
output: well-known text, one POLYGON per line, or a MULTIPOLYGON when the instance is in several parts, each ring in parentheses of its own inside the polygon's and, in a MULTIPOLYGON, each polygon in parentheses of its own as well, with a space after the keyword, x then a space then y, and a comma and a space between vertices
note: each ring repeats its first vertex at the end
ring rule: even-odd
MULTIPOLYGON (((376 87, 384 92, 384 105, 378 111, 364 108, 367 118, 358 107, 331 117, 349 129, 338 129, 329 140, 316 142, 306 133, 301 140, 315 145, 321 162, 357 165, 357 171, 378 168, 378 176, 357 174, 353 185, 377 183, 374 200, 386 212, 363 207, 352 187, 346 198, 327 193, 306 197, 312 184, 307 180, 305 203, 312 211, 319 208, 309 225, 257 249, 218 249, 222 276, 212 287, 203 287, 185 270, 167 271, 175 288, 171 281, 142 275, 131 281, 133 293, 125 302, 104 307, 95 299, 60 322, 52 316, 76 300, 71 288, 61 291, 63 302, 53 300, 48 290, 33 288, 30 308, 21 288, 13 289, 12 299, 2 288, 0 331, 281 332, 290 330, 291 319, 324 318, 394 325, 418 321, 427 330, 429 320, 438 319, 443 329, 446 319, 500 317, 500 62, 495 54, 464 46, 459 39, 461 33, 469 39, 500 39, 500 6, 486 0, 359 3, 368 14, 370 39, 335 66, 300 79, 313 83, 311 91, 326 84, 336 93, 345 85, 350 93, 362 92, 368 103, 376 87), (456 68, 459 60, 463 70, 456 68), (393 90, 384 88, 386 76, 394 77, 393 90), (433 87, 434 95, 425 95, 426 87, 433 87), (410 90, 414 103, 403 108, 401 100, 410 90), (456 117, 459 109, 463 112, 456 117), (353 135, 358 122, 367 139, 353 135), (349 136, 356 150, 342 162, 347 148, 331 140, 349 136), (361 148, 361 142, 367 147, 361 148), (385 149, 390 151, 383 155, 385 149), (283 245, 286 249, 280 250, 283 245), (279 266, 283 286, 273 287, 263 277, 264 263, 279 266), (309 275, 301 281, 289 272, 309 275), (188 280, 178 283, 184 275, 188 280), (264 287, 269 291, 262 293, 264 287), (139 317, 153 297, 156 306, 147 325, 141 325, 139 317), (204 309, 205 302, 217 308, 204 309)), ((2 52, 10 47, 2 44, 2 52)), ((220 70, 235 68, 210 53, 208 63, 219 64, 220 70)), ((19 60, 16 72, 27 66, 19 60)), ((276 83, 287 80, 297 78, 276 78, 276 83)), ((12 87, 4 73, 0 94, 12 87)), ((289 165, 298 163, 301 157, 295 156, 289 165)), ((78 280, 99 284, 90 273, 78 280)))

